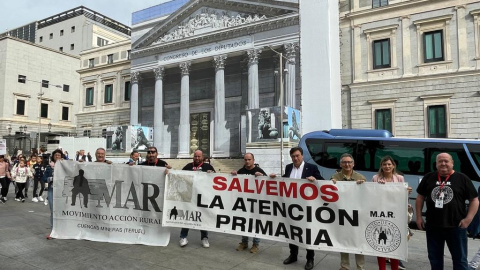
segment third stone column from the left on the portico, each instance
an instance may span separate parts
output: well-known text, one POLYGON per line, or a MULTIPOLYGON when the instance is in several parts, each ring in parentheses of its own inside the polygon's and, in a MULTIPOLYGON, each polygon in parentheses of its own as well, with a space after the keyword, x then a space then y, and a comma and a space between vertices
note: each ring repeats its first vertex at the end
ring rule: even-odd
POLYGON ((182 81, 180 90, 180 127, 178 129, 179 158, 190 157, 190 65, 191 62, 180 63, 182 81))

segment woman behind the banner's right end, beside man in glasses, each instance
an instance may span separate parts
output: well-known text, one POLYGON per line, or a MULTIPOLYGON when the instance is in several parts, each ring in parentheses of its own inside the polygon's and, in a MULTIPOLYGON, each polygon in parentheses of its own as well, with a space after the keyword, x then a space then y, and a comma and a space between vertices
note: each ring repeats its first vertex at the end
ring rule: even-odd
MULTIPOLYGON (((380 161, 380 170, 373 176, 373 182, 385 184, 389 182, 404 182, 403 176, 399 175, 395 170, 395 161, 391 156, 384 156, 380 161)), ((377 257, 378 269, 386 270, 387 258, 377 257)), ((403 264, 399 268, 401 262, 397 259, 390 259, 390 265, 392 270, 405 269, 403 264)))

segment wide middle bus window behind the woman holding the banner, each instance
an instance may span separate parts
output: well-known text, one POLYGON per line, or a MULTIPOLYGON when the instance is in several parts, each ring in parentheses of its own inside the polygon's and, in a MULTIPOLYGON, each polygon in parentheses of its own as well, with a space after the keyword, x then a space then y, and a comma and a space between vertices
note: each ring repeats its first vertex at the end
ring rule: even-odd
MULTIPOLYGON (((364 141, 366 170, 378 171, 384 156, 395 160, 399 173, 423 175, 425 173, 425 144, 399 141, 364 141)), ((360 146, 359 146, 360 148, 360 146)))

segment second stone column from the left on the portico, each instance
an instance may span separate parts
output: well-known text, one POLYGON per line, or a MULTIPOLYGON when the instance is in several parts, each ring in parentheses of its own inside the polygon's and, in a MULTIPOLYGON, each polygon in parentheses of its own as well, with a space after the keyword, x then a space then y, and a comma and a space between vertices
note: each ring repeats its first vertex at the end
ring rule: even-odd
POLYGON ((155 102, 153 106, 153 145, 157 147, 159 154, 165 153, 163 149, 163 76, 164 67, 153 69, 155 73, 155 102))

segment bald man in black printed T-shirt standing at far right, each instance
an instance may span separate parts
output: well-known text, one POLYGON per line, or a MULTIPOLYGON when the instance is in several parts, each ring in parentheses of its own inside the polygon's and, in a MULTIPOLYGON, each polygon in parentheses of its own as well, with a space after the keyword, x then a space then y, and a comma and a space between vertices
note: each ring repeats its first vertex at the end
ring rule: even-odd
POLYGON ((452 255, 453 269, 468 269, 467 227, 477 213, 478 194, 468 176, 453 170, 450 154, 438 154, 436 167, 437 171, 426 174, 417 188, 417 226, 426 230, 432 269, 443 269, 445 243, 452 255), (468 211, 466 200, 470 202, 468 211), (425 223, 424 202, 427 205, 425 223))

